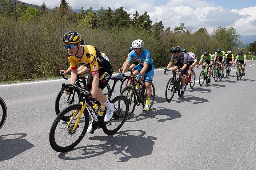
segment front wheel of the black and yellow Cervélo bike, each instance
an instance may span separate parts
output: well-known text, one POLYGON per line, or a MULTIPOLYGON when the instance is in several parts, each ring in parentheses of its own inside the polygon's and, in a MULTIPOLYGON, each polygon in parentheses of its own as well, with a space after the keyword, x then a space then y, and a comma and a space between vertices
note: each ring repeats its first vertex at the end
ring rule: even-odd
POLYGON ((89 126, 89 113, 86 108, 84 109, 76 129, 73 131, 81 109, 82 105, 71 105, 61 111, 55 118, 49 134, 49 142, 53 150, 57 152, 67 152, 68 150, 73 149, 83 139, 89 126), (66 115, 73 115, 76 110, 78 110, 78 113, 71 125, 67 126, 69 120, 63 121, 63 117, 66 115))

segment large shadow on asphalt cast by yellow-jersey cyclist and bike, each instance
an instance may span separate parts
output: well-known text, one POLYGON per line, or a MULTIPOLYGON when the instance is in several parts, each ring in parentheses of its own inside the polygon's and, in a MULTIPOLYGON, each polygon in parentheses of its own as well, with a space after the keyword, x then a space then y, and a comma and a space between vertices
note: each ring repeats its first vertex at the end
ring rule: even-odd
POLYGON ((120 154, 120 161, 127 162, 133 158, 140 158, 143 156, 151 155, 153 151, 154 136, 145 137, 145 131, 141 130, 128 130, 116 132, 114 135, 109 136, 92 136, 89 140, 99 140, 105 142, 98 145, 87 145, 72 149, 65 153, 60 153, 59 158, 63 160, 81 160, 100 156, 107 152, 113 154, 120 154))

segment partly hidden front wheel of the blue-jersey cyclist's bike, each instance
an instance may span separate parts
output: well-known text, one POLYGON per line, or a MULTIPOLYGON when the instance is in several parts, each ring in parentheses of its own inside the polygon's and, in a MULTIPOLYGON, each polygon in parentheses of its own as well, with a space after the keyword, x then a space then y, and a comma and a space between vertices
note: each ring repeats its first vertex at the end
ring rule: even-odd
MULTIPOLYGON (((135 88, 135 87, 134 87, 135 88)), ((136 106, 136 94, 132 90, 132 86, 126 86, 120 93, 120 95, 124 95, 128 99, 129 103, 129 111, 127 114, 127 119, 133 114, 136 106)))

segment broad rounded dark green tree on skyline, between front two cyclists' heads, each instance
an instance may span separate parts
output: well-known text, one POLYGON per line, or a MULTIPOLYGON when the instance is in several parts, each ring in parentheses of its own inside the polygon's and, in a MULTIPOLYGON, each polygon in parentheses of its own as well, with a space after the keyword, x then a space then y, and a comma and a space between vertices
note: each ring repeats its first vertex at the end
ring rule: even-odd
POLYGON ((123 7, 117 8, 113 13, 111 22, 117 28, 128 27, 131 23, 130 14, 128 14, 123 7))

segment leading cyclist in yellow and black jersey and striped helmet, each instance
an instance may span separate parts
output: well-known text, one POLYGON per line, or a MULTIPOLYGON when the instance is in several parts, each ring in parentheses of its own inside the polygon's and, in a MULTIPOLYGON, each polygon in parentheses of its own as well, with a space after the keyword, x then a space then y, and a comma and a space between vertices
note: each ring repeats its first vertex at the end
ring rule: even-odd
MULTIPOLYGON (((92 96, 87 103, 93 106, 95 100, 97 100, 105 104, 107 113, 104 117, 104 121, 108 122, 113 116, 114 105, 102 94, 102 90, 112 76, 112 66, 109 61, 104 58, 104 53, 101 53, 96 47, 90 45, 82 46, 80 42, 81 35, 77 31, 69 31, 64 35, 63 43, 68 50, 68 60, 71 65, 71 84, 75 84, 76 82, 77 63, 84 64, 87 68, 91 69, 92 96)), ((91 125, 88 127, 87 132, 92 130, 91 125)))

